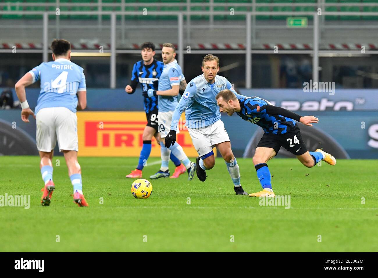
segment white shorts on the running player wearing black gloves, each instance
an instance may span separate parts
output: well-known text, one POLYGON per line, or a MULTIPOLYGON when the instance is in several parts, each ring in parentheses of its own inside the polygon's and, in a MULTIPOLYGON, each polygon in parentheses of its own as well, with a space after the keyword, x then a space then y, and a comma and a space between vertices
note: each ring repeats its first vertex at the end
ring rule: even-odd
POLYGON ((208 154, 214 145, 230 141, 225 126, 221 120, 206 127, 188 128, 195 150, 199 156, 208 154))

